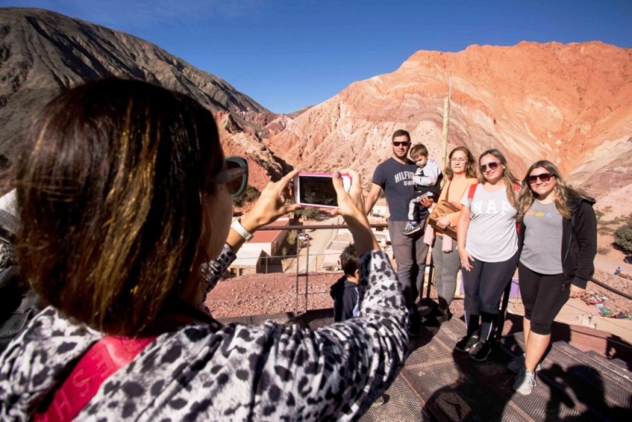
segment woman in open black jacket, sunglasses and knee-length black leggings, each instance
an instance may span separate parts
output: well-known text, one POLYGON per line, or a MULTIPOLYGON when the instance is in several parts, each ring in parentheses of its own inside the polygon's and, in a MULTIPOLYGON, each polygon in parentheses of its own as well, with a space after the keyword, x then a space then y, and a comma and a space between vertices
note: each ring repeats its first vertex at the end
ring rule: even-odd
POLYGON ((533 163, 520 194, 520 295, 525 306, 526 354, 507 365, 518 373, 513 388, 531 394, 535 371, 549 346, 554 318, 569 297, 585 292, 595 273, 595 200, 562 180, 550 161, 533 163))

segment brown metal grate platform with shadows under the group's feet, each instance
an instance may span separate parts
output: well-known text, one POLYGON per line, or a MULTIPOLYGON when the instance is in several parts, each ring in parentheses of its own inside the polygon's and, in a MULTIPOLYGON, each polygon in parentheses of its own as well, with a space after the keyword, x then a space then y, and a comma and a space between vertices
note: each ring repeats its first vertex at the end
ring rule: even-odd
MULTIPOLYGON (((432 304, 423 304, 426 314, 432 304)), ((293 315, 230 318, 222 322, 260 324, 265 320, 319 328, 333 323, 332 309, 293 315)), ((411 341, 404 368, 362 421, 622 421, 632 414, 629 371, 589 356, 563 342, 552 345, 538 385, 523 396, 511 388, 515 375, 506 369, 511 353, 524 350, 522 333, 494 346, 485 362, 454 351, 465 323, 453 318, 440 327, 425 326, 411 341), (505 353, 509 352, 509 353, 505 353), (623 372, 622 372, 623 371, 623 372)))

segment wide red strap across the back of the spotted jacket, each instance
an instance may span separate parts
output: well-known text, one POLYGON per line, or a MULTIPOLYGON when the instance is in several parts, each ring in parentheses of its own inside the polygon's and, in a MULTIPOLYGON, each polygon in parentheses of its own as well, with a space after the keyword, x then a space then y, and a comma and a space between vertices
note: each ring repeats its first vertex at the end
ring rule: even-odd
POLYGON ((96 342, 76 364, 52 397, 46 411, 33 415, 36 422, 71 421, 97 394, 101 384, 134 360, 155 337, 114 337, 96 342))

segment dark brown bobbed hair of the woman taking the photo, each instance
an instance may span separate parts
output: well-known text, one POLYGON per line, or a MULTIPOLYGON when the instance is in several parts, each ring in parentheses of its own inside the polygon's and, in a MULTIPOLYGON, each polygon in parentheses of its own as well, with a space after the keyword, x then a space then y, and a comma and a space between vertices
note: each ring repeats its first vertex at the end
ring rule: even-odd
POLYGON ((223 160, 213 116, 188 96, 117 78, 64 92, 16 166, 23 274, 67 316, 143 332, 199 282, 202 201, 223 160))

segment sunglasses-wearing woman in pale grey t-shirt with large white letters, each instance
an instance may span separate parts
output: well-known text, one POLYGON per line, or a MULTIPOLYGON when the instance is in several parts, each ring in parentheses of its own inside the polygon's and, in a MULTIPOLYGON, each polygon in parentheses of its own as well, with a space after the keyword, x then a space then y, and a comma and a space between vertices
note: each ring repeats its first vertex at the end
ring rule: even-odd
POLYGON ((518 179, 497 149, 478 159, 479 183, 461 199, 457 226, 459 258, 463 268, 467 334, 455 349, 484 361, 491 351, 502 292, 518 262, 518 179))

